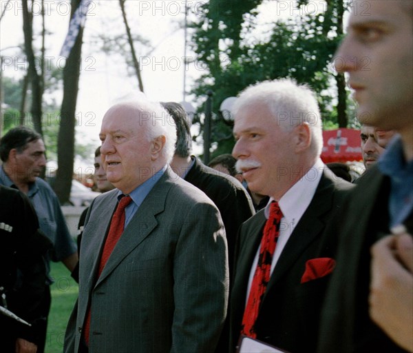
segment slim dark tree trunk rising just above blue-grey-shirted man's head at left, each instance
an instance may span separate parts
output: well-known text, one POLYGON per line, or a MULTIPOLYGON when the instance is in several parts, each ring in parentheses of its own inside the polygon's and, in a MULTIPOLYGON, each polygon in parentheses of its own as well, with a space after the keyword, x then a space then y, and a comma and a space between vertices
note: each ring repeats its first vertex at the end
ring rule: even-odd
MULTIPOLYGON (((25 54, 28 58, 28 74, 30 77, 30 83, 32 85, 32 120, 34 125, 34 130, 39 132, 43 136, 43 130, 41 126, 41 115, 42 115, 42 99, 43 99, 43 86, 42 78, 37 73, 36 61, 33 51, 33 14, 29 12, 28 0, 22 0, 23 8, 23 33, 24 33, 24 48, 25 54)), ((43 58, 41 58, 42 60, 43 58)))

